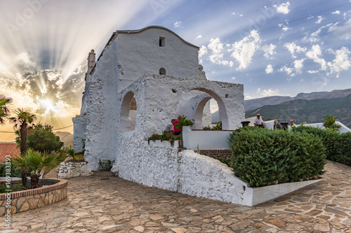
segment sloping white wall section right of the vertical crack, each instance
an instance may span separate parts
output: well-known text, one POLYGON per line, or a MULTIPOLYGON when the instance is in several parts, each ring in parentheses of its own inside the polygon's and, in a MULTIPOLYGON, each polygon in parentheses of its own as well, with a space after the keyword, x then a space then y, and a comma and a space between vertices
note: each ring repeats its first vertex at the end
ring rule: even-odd
POLYGON ((183 150, 180 155, 180 179, 178 192, 196 197, 244 204, 248 184, 234 176, 227 165, 211 157, 199 155, 193 150, 183 150))

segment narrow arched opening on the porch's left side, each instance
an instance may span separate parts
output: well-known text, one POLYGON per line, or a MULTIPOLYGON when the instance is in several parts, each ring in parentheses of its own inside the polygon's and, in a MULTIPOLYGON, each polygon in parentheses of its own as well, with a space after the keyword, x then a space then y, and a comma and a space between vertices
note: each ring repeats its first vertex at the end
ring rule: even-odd
POLYGON ((119 132, 129 132, 135 129, 135 113, 131 114, 133 111, 137 111, 136 101, 133 104, 134 93, 127 92, 121 102, 121 113, 119 120, 119 132), (135 105, 135 106, 134 106, 135 105))

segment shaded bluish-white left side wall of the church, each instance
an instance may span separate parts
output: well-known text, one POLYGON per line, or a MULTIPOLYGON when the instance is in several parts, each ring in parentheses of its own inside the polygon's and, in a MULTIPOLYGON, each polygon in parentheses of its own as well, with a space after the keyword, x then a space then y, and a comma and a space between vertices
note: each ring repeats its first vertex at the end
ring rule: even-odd
POLYGON ((85 159, 96 170, 99 160, 114 160, 114 134, 117 112, 115 44, 107 46, 95 71, 89 77, 85 159))

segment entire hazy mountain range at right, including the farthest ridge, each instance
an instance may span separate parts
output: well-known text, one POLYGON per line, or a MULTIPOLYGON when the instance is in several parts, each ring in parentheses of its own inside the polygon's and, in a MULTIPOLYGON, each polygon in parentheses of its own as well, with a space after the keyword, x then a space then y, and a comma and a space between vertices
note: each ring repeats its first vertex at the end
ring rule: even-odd
POLYGON ((296 97, 263 97, 244 101, 246 118, 257 113, 263 120, 295 120, 297 124, 324 122, 325 115, 351 127, 351 89, 300 93, 296 97))

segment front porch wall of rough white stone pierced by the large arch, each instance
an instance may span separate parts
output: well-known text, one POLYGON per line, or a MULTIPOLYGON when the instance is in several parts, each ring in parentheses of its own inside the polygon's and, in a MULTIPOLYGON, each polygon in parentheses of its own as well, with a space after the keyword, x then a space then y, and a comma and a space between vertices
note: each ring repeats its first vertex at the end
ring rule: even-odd
POLYGON ((146 111, 143 129, 147 132, 160 134, 168 119, 176 116, 175 110, 180 98, 193 89, 215 93, 222 99, 222 106, 219 108, 225 113, 221 118, 223 129, 236 129, 244 120, 243 85, 169 76, 145 76, 143 80, 146 111), (172 89, 176 90, 176 93, 173 93, 172 89), (159 126, 160 123, 162 127, 159 126))

